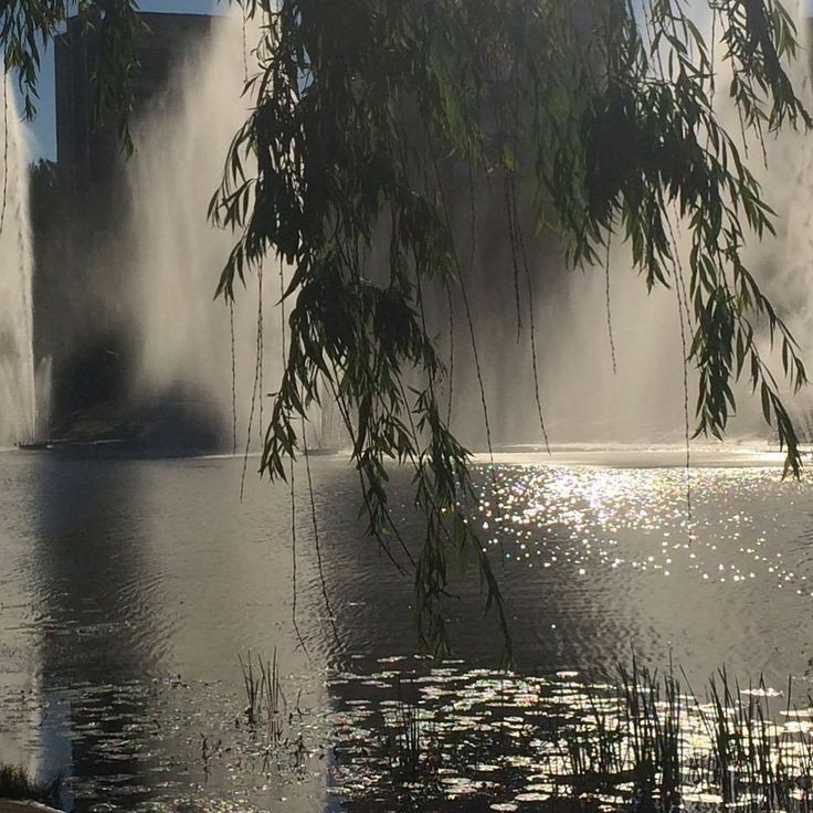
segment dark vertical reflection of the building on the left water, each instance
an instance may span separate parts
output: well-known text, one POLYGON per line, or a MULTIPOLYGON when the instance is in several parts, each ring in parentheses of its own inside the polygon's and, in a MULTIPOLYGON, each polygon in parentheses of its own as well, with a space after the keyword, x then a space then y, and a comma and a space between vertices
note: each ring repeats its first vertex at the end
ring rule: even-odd
MULTIPOLYGON (((94 778, 108 795, 145 774, 148 751, 129 747, 150 698, 123 690, 155 668, 149 631, 160 625, 142 551, 139 472, 115 462, 36 461, 36 548, 31 572, 42 616, 40 693, 47 772, 94 778), (147 633, 147 634, 146 634, 147 633)), ((71 785, 67 785, 71 792, 71 785)), ((152 791, 128 790, 148 801, 152 791)), ((82 798, 75 810, 83 809, 82 798)))

